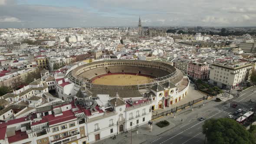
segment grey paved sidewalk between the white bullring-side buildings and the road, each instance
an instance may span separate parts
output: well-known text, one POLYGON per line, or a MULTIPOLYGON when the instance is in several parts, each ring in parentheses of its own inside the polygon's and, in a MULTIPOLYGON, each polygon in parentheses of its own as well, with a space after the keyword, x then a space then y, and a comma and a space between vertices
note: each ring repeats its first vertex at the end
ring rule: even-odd
MULTIPOLYGON (((214 99, 205 100, 205 104, 214 101, 214 99)), ((186 108, 185 110, 178 111, 175 114, 167 115, 158 119, 155 119, 153 121, 153 130, 150 132, 150 129, 148 128, 148 124, 141 125, 139 128, 133 128, 132 129, 132 144, 141 144, 144 141, 152 138, 152 136, 157 136, 159 134, 164 133, 165 131, 168 131, 170 129, 180 129, 182 124, 187 124, 191 120, 195 120, 197 118, 200 118, 201 116, 204 116, 206 111, 202 111, 199 108, 199 105, 203 105, 203 102, 197 103, 194 105, 194 111, 192 111, 192 107, 186 108), (195 114, 200 112, 200 115, 195 114), (185 114, 185 115, 181 115, 185 114), (183 121, 181 121, 181 118, 183 121), (170 123, 167 127, 159 128, 156 123, 159 121, 166 120, 170 123), (138 129, 138 134, 137 134, 138 129)), ((153 115, 153 113, 152 113, 153 115)), ((128 131, 128 134, 121 133, 118 134, 116 139, 113 140, 112 138, 107 138, 102 141, 98 141, 95 144, 128 144, 131 143, 131 131, 128 131)))

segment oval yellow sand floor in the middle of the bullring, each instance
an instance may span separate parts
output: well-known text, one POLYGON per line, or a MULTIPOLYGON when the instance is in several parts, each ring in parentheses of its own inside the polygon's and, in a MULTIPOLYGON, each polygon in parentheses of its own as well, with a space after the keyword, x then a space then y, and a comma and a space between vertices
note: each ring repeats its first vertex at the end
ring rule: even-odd
POLYGON ((137 85, 138 81, 150 80, 152 78, 140 75, 105 75, 95 79, 92 83, 98 85, 137 85))

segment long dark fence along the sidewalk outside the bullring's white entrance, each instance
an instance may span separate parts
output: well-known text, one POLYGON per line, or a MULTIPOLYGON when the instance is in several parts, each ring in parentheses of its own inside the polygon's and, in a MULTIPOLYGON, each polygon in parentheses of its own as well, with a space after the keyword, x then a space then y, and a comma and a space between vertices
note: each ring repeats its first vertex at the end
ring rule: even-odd
MULTIPOLYGON (((160 118, 160 117, 162 117, 162 116, 164 116, 164 115, 171 115, 171 113, 176 113, 177 111, 182 110, 182 109, 185 109, 185 108, 188 107, 188 106, 194 105, 194 104, 196 104, 196 103, 198 103, 198 102, 201 102, 201 101, 203 101, 203 100, 207 100, 208 97, 210 97, 210 96, 203 96, 202 98, 198 98, 198 99, 196 99, 196 100, 189 101, 188 103, 186 103, 186 104, 184 104, 184 105, 180 105, 180 106, 177 106, 177 107, 173 107, 173 108, 171 108, 171 109, 168 110, 168 111, 164 111, 164 112, 161 112, 161 113, 159 113, 159 114, 152 115, 151 121, 154 120, 154 119, 160 118)), ((193 108, 193 107, 192 107, 192 108, 193 108)))

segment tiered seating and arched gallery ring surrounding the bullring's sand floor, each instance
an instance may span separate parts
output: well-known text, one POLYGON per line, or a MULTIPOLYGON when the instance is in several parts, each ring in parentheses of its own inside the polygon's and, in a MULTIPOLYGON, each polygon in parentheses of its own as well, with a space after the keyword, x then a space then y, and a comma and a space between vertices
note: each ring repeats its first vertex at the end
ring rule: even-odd
POLYGON ((144 89, 157 84, 172 82, 174 85, 183 79, 183 73, 170 63, 143 60, 105 60, 80 65, 67 75, 76 85, 103 89, 144 89), (98 85, 92 80, 100 75, 115 73, 138 74, 154 79, 138 81, 136 85, 98 85))

